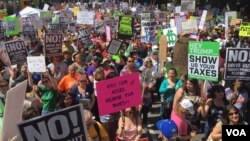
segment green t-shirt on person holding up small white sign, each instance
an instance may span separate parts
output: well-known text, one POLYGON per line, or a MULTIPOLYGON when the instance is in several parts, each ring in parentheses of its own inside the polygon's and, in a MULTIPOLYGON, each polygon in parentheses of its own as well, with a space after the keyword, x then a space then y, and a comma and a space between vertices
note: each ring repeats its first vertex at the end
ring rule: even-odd
POLYGON ((42 93, 43 110, 56 110, 56 90, 54 88, 46 89, 45 87, 38 87, 42 93))

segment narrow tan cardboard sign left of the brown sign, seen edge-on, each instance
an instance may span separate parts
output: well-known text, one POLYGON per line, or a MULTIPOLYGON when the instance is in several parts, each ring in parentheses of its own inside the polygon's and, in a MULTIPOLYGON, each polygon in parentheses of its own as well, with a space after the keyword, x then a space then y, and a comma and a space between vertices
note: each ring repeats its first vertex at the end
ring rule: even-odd
POLYGON ((159 48, 159 56, 160 56, 160 67, 163 68, 164 64, 166 63, 167 60, 167 39, 165 35, 161 35, 160 38, 160 48, 159 48))

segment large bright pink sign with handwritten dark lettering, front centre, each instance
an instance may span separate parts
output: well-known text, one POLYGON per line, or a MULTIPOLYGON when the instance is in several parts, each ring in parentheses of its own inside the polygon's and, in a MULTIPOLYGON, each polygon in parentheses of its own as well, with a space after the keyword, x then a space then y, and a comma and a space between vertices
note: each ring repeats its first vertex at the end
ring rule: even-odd
POLYGON ((96 90, 101 116, 142 103, 139 73, 100 81, 96 90))

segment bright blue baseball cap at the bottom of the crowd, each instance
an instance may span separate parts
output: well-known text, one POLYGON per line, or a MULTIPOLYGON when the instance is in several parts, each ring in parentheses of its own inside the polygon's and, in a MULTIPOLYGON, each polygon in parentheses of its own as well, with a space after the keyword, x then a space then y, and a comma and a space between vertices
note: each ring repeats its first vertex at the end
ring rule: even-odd
POLYGON ((178 127, 174 121, 170 119, 159 120, 156 122, 156 127, 162 132, 166 138, 173 137, 174 133, 178 132, 178 127))

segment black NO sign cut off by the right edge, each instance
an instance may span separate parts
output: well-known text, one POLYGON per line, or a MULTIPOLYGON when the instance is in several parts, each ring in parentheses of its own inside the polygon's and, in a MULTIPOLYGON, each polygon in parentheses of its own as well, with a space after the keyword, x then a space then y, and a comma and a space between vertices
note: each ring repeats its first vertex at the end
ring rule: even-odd
POLYGON ((249 48, 227 48, 225 80, 250 80, 249 58, 249 48))

